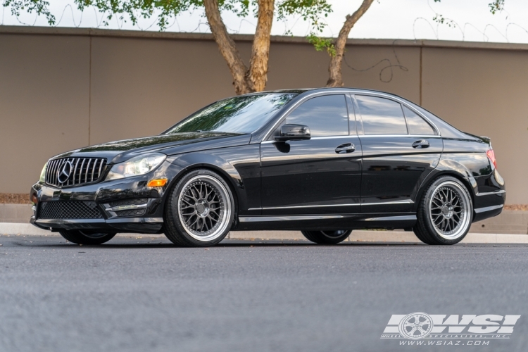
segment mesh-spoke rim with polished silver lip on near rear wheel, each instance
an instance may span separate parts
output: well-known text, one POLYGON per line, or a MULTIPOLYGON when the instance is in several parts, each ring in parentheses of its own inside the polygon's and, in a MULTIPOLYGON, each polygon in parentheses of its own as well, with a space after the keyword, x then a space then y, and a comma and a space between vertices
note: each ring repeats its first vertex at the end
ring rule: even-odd
POLYGON ((460 184, 441 182, 432 191, 428 206, 429 220, 440 237, 453 240, 467 232, 471 220, 471 201, 460 184))

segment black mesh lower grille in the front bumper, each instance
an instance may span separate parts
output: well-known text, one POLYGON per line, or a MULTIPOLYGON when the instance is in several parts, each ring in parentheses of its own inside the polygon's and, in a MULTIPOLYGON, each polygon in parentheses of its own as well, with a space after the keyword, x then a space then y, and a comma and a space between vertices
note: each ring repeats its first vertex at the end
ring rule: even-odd
POLYGON ((39 203, 38 219, 102 219, 94 201, 43 201, 39 203))

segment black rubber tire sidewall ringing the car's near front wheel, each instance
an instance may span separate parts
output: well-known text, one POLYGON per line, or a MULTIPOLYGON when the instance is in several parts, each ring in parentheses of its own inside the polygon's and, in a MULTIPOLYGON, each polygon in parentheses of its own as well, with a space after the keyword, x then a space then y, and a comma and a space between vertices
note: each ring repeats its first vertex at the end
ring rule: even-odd
POLYGON ((170 207, 168 209, 169 211, 166 213, 166 220, 172 222, 172 224, 175 225, 177 232, 179 232, 178 235, 184 237, 185 241, 190 242, 190 244, 193 246, 213 246, 214 244, 218 244, 220 241, 222 241, 222 239, 227 236, 227 234, 231 230, 235 213, 233 191, 229 184, 227 184, 227 182, 225 182, 225 180, 220 177, 220 175, 218 175, 218 173, 216 172, 207 169, 199 169, 187 172, 187 174, 185 174, 180 180, 178 180, 177 184, 175 184, 174 189, 172 189, 172 191, 170 192, 170 199, 168 199, 168 201, 170 202, 170 207), (187 181, 191 180, 191 178, 201 175, 213 177, 217 182, 219 182, 220 184, 222 184, 223 187, 225 187, 227 193, 227 199, 225 201, 229 201, 231 206, 230 217, 227 219, 227 227, 222 232, 222 234, 220 234, 220 236, 210 241, 200 241, 198 239, 195 239, 194 237, 191 237, 191 235, 189 235, 185 230, 185 227, 182 224, 180 216, 178 214, 178 199, 180 198, 182 189, 184 188, 187 181))

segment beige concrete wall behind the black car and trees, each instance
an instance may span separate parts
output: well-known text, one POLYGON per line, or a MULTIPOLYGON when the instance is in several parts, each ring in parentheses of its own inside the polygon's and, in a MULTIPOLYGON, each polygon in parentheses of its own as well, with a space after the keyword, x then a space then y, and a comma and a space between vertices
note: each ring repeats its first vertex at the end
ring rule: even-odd
MULTIPOLYGON (((251 37, 236 39, 247 61, 251 37)), ((491 137, 508 203, 528 203, 527 45, 350 40, 346 61, 347 86, 401 95, 491 137)), ((268 89, 322 87, 327 64, 303 39, 276 37, 268 89)), ((26 192, 56 153, 158 134, 233 94, 208 34, 2 26, 0 193, 26 192)))

